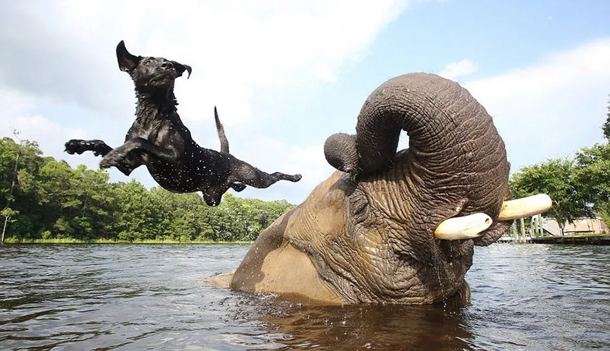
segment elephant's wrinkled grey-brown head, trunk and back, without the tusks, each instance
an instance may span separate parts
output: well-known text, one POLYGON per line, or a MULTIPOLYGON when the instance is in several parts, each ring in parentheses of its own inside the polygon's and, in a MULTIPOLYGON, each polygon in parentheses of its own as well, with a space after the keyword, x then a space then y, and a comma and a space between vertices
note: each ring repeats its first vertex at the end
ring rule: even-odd
POLYGON ((508 230, 504 142, 487 111, 458 83, 426 73, 388 80, 368 97, 356 135, 324 146, 341 171, 260 235, 231 288, 327 303, 425 304, 468 300, 474 245, 508 230), (406 130, 409 149, 396 154, 406 130), (439 240, 453 216, 494 220, 480 238, 439 240))

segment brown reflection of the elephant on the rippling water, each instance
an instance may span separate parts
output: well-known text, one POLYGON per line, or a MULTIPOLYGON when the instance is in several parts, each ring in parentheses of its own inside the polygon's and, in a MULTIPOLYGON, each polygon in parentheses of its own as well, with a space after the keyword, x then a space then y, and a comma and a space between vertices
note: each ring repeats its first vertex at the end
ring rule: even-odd
POLYGON ((294 348, 463 350, 472 336, 463 314, 433 306, 301 306, 262 320, 294 348))

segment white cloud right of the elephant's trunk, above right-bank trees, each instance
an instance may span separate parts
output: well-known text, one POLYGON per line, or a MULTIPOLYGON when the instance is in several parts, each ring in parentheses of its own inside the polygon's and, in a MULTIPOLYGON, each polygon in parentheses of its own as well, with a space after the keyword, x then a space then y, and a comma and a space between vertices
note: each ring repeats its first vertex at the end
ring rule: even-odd
POLYGON ((512 171, 602 141, 610 93, 610 38, 465 87, 494 118, 512 171))

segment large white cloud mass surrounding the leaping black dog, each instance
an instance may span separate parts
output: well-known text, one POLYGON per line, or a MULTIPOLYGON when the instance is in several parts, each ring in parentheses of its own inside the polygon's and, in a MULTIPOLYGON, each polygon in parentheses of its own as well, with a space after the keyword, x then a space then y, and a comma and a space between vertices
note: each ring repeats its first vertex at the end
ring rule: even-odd
MULTIPOLYGON (((114 54, 116 44, 124 39, 132 54, 165 56, 193 67, 189 80, 176 82, 181 117, 197 141, 217 149, 214 105, 226 128, 238 125, 233 130, 248 130, 252 123, 260 123, 260 116, 252 116, 252 106, 269 99, 265 94, 341 79, 341 68, 364 58, 374 38, 407 3, 57 0, 32 6, 28 1, 0 2, 0 91, 23 100, 7 100, 14 111, 0 116, 0 123, 11 122, 23 137, 37 140, 49 156, 97 167, 99 158, 68 156, 63 143, 72 137, 99 138, 111 145, 122 141, 135 102, 132 83, 118 70, 114 54), (78 115, 59 117, 42 111, 49 105, 78 110, 78 115)), ((0 127, 0 133, 11 135, 8 126, 0 127)), ((247 139, 236 144, 256 147, 249 154, 235 150, 236 156, 264 171, 300 172, 303 180, 280 182, 264 191, 246 190, 240 196, 277 195, 299 202, 331 172, 321 145, 293 145, 288 136, 264 140, 264 136, 242 135, 247 139)), ((110 173, 113 180, 126 179, 117 171, 110 173)), ((144 168, 130 178, 154 185, 144 168)))

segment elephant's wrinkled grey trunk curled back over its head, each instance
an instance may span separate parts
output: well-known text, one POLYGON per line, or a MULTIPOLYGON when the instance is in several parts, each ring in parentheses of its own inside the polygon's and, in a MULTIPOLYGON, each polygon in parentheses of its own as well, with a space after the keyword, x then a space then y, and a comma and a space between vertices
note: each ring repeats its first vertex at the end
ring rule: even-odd
POLYGON ((496 221, 502 201, 511 198, 506 149, 487 111, 457 82, 428 73, 384 82, 362 106, 356 134, 331 135, 324 155, 353 176, 385 171, 395 163, 401 130, 409 136, 405 175, 417 193, 451 192, 463 201, 461 214, 481 211, 496 221))

